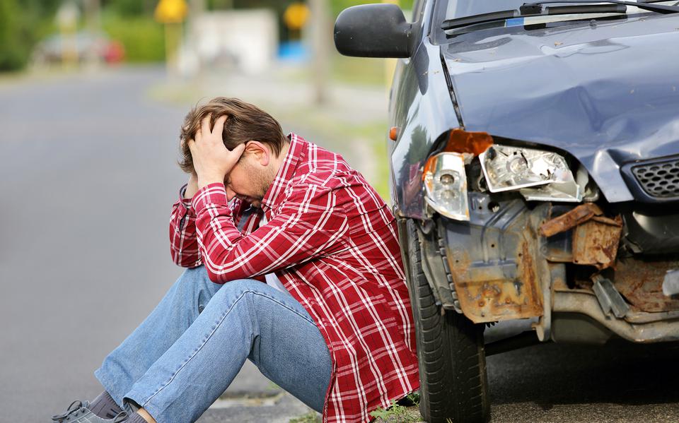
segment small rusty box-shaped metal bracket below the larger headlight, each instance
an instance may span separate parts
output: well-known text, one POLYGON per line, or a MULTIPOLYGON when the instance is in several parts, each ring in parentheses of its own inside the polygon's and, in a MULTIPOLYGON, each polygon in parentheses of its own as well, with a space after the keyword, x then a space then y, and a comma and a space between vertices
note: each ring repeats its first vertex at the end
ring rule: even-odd
POLYGON ((615 263, 620 244, 622 218, 594 216, 573 231, 573 263, 596 266, 599 270, 615 263))

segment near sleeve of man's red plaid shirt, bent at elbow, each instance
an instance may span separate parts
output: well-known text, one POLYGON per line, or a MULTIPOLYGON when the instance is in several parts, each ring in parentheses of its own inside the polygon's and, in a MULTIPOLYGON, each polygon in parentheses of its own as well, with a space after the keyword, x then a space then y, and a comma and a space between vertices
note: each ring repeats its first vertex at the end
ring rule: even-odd
POLYGON ((223 184, 204 186, 193 198, 199 250, 216 283, 253 278, 342 248, 349 226, 324 186, 294 186, 266 225, 241 234, 233 224, 223 184))

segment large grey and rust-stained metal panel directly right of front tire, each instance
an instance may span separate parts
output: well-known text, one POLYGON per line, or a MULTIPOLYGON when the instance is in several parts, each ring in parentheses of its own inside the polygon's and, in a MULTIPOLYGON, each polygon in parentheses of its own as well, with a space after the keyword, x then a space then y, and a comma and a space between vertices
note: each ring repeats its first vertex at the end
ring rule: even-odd
POLYGON ((489 206, 490 196, 470 192, 470 222, 445 220, 443 241, 452 286, 463 314, 475 323, 545 314, 543 283, 550 274, 539 254, 538 227, 550 205, 529 209, 505 198, 489 206), (542 269, 542 270, 541 270, 542 269))

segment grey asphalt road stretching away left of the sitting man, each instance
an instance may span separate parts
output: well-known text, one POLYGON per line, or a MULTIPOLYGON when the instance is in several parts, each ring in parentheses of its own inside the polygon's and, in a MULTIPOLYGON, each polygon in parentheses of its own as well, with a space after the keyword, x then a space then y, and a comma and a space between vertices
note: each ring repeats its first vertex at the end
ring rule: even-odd
POLYGON ((169 207, 185 110, 146 100, 161 73, 0 86, 0 421, 47 422, 180 274, 169 207))

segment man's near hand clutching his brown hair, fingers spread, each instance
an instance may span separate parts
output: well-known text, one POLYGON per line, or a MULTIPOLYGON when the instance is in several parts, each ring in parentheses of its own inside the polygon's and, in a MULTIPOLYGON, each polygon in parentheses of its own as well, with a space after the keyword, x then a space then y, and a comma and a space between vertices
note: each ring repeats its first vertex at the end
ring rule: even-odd
POLYGON ((199 189, 216 182, 224 184, 226 175, 231 172, 245 150, 245 144, 237 145, 231 151, 224 146, 221 133, 224 131, 226 116, 219 117, 212 129, 210 119, 210 115, 205 117, 200 122, 200 130, 195 139, 188 141, 199 189))

